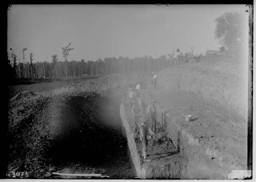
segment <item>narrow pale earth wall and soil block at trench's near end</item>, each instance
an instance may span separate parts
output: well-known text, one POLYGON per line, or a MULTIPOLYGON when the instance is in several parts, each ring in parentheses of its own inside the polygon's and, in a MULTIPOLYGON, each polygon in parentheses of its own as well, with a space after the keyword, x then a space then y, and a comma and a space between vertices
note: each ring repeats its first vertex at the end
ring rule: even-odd
POLYGON ((165 136, 165 133, 156 135, 155 141, 165 140, 162 144, 154 144, 155 142, 148 141, 147 159, 151 162, 144 162, 142 157, 141 142, 133 132, 133 119, 129 107, 125 103, 120 105, 120 117, 122 119, 123 127, 125 128, 127 143, 130 149, 132 161, 135 166, 137 176, 140 178, 167 178, 179 179, 181 178, 181 170, 183 162, 179 151, 175 148, 172 140, 165 136), (153 145, 153 146, 152 146, 153 145), (165 156, 167 155, 167 156, 165 156))

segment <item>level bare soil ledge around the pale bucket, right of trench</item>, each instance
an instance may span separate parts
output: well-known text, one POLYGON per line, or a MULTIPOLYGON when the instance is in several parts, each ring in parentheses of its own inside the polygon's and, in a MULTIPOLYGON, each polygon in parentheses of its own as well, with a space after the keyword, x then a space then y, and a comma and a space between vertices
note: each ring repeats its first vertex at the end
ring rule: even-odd
MULTIPOLYGON (((225 161, 231 162, 243 170, 247 166, 247 121, 239 116, 230 117, 225 113, 212 110, 207 103, 200 101, 196 94, 186 91, 167 92, 161 88, 144 90, 168 111, 172 119, 178 119, 179 125, 199 140, 203 147, 219 152, 225 161), (186 122, 185 116, 192 115, 186 122)), ((167 123, 166 131, 172 125, 167 123)), ((213 157, 212 160, 215 158, 213 157)))

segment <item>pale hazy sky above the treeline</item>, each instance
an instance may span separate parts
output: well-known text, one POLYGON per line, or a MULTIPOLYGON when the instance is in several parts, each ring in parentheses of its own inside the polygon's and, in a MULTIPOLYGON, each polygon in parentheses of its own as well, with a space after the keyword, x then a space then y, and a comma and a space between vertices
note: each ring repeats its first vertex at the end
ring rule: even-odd
POLYGON ((35 61, 62 58, 62 46, 75 48, 69 60, 145 55, 159 57, 220 47, 215 18, 245 11, 245 5, 13 5, 8 11, 8 50, 28 47, 35 61))

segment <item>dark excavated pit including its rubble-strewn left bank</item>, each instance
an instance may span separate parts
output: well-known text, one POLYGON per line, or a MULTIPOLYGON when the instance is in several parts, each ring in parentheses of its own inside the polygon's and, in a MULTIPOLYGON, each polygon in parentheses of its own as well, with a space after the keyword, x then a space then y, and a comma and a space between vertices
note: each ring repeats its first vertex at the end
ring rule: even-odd
POLYGON ((50 173, 60 172, 133 178, 118 100, 93 92, 54 97, 27 93, 12 100, 9 177, 28 172, 28 178, 62 178, 50 173))

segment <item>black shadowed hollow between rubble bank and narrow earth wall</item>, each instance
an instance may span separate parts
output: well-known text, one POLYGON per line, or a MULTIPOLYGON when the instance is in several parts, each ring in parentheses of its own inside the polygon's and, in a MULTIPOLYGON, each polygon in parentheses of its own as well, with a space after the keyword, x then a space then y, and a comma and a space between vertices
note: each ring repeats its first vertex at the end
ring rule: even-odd
POLYGON ((61 103, 49 150, 53 164, 59 167, 57 172, 134 177, 119 100, 89 93, 61 103))

